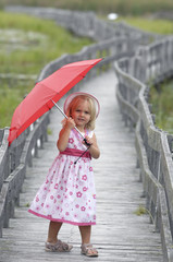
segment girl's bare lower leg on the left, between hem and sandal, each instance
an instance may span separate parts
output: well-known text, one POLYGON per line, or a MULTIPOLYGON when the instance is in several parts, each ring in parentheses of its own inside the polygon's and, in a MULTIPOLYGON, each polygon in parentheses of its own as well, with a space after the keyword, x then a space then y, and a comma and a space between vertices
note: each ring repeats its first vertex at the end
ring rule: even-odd
POLYGON ((58 234, 60 231, 61 226, 62 226, 62 223, 52 222, 52 221, 50 222, 47 242, 57 243, 58 234))

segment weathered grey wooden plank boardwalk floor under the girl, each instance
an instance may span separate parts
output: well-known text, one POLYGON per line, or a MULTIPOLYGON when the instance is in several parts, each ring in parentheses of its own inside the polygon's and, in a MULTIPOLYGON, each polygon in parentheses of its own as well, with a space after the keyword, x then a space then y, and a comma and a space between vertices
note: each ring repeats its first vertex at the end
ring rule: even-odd
MULTIPOLYGON (((55 141, 62 117, 52 110, 49 129, 52 134, 27 169, 21 193, 21 205, 10 227, 3 229, 0 239, 0 262, 62 262, 113 261, 160 262, 162 249, 160 235, 149 223, 149 215, 135 212, 145 206, 143 184, 136 169, 134 134, 124 127, 115 99, 114 72, 110 71, 83 85, 83 91, 96 95, 101 105, 96 134, 101 157, 94 160, 97 188, 97 225, 92 226, 91 241, 99 257, 88 259, 79 253, 81 237, 76 226, 64 224, 60 238, 74 245, 71 253, 45 252, 48 221, 27 212, 27 205, 44 181, 48 168, 57 155, 55 141)), ((60 103, 62 104, 63 100, 60 103)))

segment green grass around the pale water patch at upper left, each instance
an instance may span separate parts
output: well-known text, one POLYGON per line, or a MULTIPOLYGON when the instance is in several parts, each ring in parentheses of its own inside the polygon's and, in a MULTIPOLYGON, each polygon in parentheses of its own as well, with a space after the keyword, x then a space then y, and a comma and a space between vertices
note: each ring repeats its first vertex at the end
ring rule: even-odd
POLYGON ((70 32, 58 26, 52 21, 44 21, 27 15, 18 15, 0 12, 0 28, 20 29, 25 36, 28 32, 36 32, 45 36, 45 40, 30 45, 27 38, 24 38, 24 45, 28 44, 26 50, 8 50, 0 52, 1 73, 10 71, 14 73, 38 74, 40 69, 51 60, 65 52, 76 52, 83 46, 91 41, 87 38, 79 38, 70 32))

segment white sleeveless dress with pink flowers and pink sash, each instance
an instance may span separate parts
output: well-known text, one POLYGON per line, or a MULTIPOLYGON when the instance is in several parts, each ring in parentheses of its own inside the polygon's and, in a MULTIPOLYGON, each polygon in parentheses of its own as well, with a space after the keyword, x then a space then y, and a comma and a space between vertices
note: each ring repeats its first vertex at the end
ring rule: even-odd
MULTIPOLYGON (((91 138, 92 131, 87 132, 91 138)), ((78 226, 96 224, 96 190, 90 154, 85 154, 74 164, 85 150, 81 135, 73 129, 67 153, 55 157, 28 212, 78 226)))

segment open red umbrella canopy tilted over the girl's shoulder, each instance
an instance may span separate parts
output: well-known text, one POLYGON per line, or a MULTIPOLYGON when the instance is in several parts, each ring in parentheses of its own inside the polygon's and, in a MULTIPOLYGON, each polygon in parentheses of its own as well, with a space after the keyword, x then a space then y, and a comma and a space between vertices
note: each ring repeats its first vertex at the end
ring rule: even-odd
POLYGON ((16 107, 9 133, 9 145, 34 121, 51 109, 64 94, 85 78, 102 58, 69 63, 38 82, 16 107))

